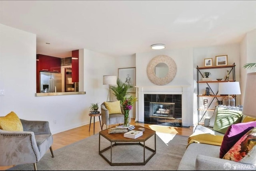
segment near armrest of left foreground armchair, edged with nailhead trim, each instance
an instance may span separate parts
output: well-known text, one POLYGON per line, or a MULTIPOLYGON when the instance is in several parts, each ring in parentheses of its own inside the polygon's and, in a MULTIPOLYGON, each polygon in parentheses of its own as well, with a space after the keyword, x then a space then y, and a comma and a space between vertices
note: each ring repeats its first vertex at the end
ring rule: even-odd
POLYGON ((0 154, 0 166, 38 162, 34 132, 0 130, 0 154))

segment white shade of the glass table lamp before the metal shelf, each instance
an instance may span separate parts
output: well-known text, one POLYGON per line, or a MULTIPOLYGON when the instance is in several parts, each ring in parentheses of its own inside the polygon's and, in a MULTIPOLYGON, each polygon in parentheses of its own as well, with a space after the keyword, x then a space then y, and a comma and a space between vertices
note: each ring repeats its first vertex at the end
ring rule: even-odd
POLYGON ((218 94, 241 94, 239 82, 219 83, 218 94))

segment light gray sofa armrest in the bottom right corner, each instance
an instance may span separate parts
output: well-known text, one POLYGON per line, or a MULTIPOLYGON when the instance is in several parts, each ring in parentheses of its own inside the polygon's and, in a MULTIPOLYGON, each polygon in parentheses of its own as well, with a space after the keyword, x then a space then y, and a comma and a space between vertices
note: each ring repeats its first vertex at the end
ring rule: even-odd
POLYGON ((255 165, 239 163, 236 161, 197 155, 195 170, 255 170, 255 165))

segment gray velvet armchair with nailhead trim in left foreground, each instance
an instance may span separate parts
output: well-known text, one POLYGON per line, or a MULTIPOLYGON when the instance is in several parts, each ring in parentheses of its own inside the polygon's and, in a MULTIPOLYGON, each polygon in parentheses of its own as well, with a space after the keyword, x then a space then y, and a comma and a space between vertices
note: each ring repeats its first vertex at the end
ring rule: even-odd
POLYGON ((5 131, 0 129, 0 166, 36 163, 50 148, 52 157, 52 134, 48 121, 20 119, 24 131, 5 131))

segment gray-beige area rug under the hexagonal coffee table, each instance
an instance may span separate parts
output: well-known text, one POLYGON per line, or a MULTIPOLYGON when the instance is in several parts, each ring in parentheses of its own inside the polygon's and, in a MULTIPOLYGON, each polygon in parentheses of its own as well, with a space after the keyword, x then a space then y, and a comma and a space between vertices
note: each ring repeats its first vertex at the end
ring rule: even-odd
MULTIPOLYGON (((102 136, 101 150, 110 145, 102 136)), ((174 134, 156 133, 156 154, 146 163, 139 166, 110 166, 99 155, 99 134, 88 137, 66 147, 54 150, 37 163, 38 170, 177 170, 186 150, 188 137, 174 134)), ((154 136, 146 141, 154 149, 154 136)), ((143 162, 143 147, 140 145, 118 145, 112 148, 112 162, 143 162)), ((152 151, 146 149, 146 159, 152 151)), ((110 150, 104 152, 110 160, 110 150)), ((34 170, 33 164, 24 164, 8 170, 34 170)))

